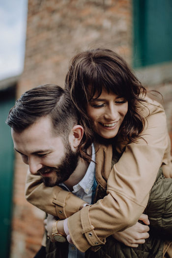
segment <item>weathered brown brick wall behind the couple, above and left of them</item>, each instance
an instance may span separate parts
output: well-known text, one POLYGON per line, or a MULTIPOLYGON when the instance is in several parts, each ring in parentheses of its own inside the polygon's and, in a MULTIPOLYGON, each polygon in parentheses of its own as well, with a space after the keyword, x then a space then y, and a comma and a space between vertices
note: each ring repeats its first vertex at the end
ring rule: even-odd
MULTIPOLYGON (((25 67, 17 96, 41 84, 63 86, 70 58, 88 48, 110 48, 131 63, 131 7, 131 0, 29 0, 25 67)), ((164 85, 160 87, 163 93, 164 85)), ((43 213, 24 198, 26 172, 17 155, 11 258, 32 258, 43 234, 43 213)))

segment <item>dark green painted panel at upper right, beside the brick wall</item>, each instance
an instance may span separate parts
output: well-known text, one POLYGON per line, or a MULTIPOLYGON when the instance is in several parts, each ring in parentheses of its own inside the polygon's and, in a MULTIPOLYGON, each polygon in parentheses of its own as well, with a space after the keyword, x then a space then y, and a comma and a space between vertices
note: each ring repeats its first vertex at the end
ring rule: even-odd
POLYGON ((172 0, 133 0, 133 65, 172 61, 172 0))

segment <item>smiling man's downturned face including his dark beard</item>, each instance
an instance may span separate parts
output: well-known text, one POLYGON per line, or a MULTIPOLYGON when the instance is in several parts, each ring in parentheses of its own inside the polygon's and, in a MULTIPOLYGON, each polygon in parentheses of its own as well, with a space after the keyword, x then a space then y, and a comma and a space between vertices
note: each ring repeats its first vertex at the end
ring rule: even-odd
POLYGON ((52 121, 41 117, 21 133, 11 130, 14 148, 29 165, 30 173, 40 174, 46 186, 66 181, 77 167, 79 155, 69 142, 55 135, 52 121))

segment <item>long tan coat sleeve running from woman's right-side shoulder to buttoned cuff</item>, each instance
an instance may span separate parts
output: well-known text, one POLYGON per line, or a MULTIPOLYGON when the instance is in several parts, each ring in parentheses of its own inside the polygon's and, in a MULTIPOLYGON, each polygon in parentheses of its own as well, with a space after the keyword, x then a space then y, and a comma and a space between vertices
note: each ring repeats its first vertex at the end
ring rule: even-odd
POLYGON ((169 145, 164 109, 158 103, 147 105, 143 138, 126 145, 108 178, 107 196, 68 218, 72 241, 82 252, 134 225, 147 205, 169 145))

